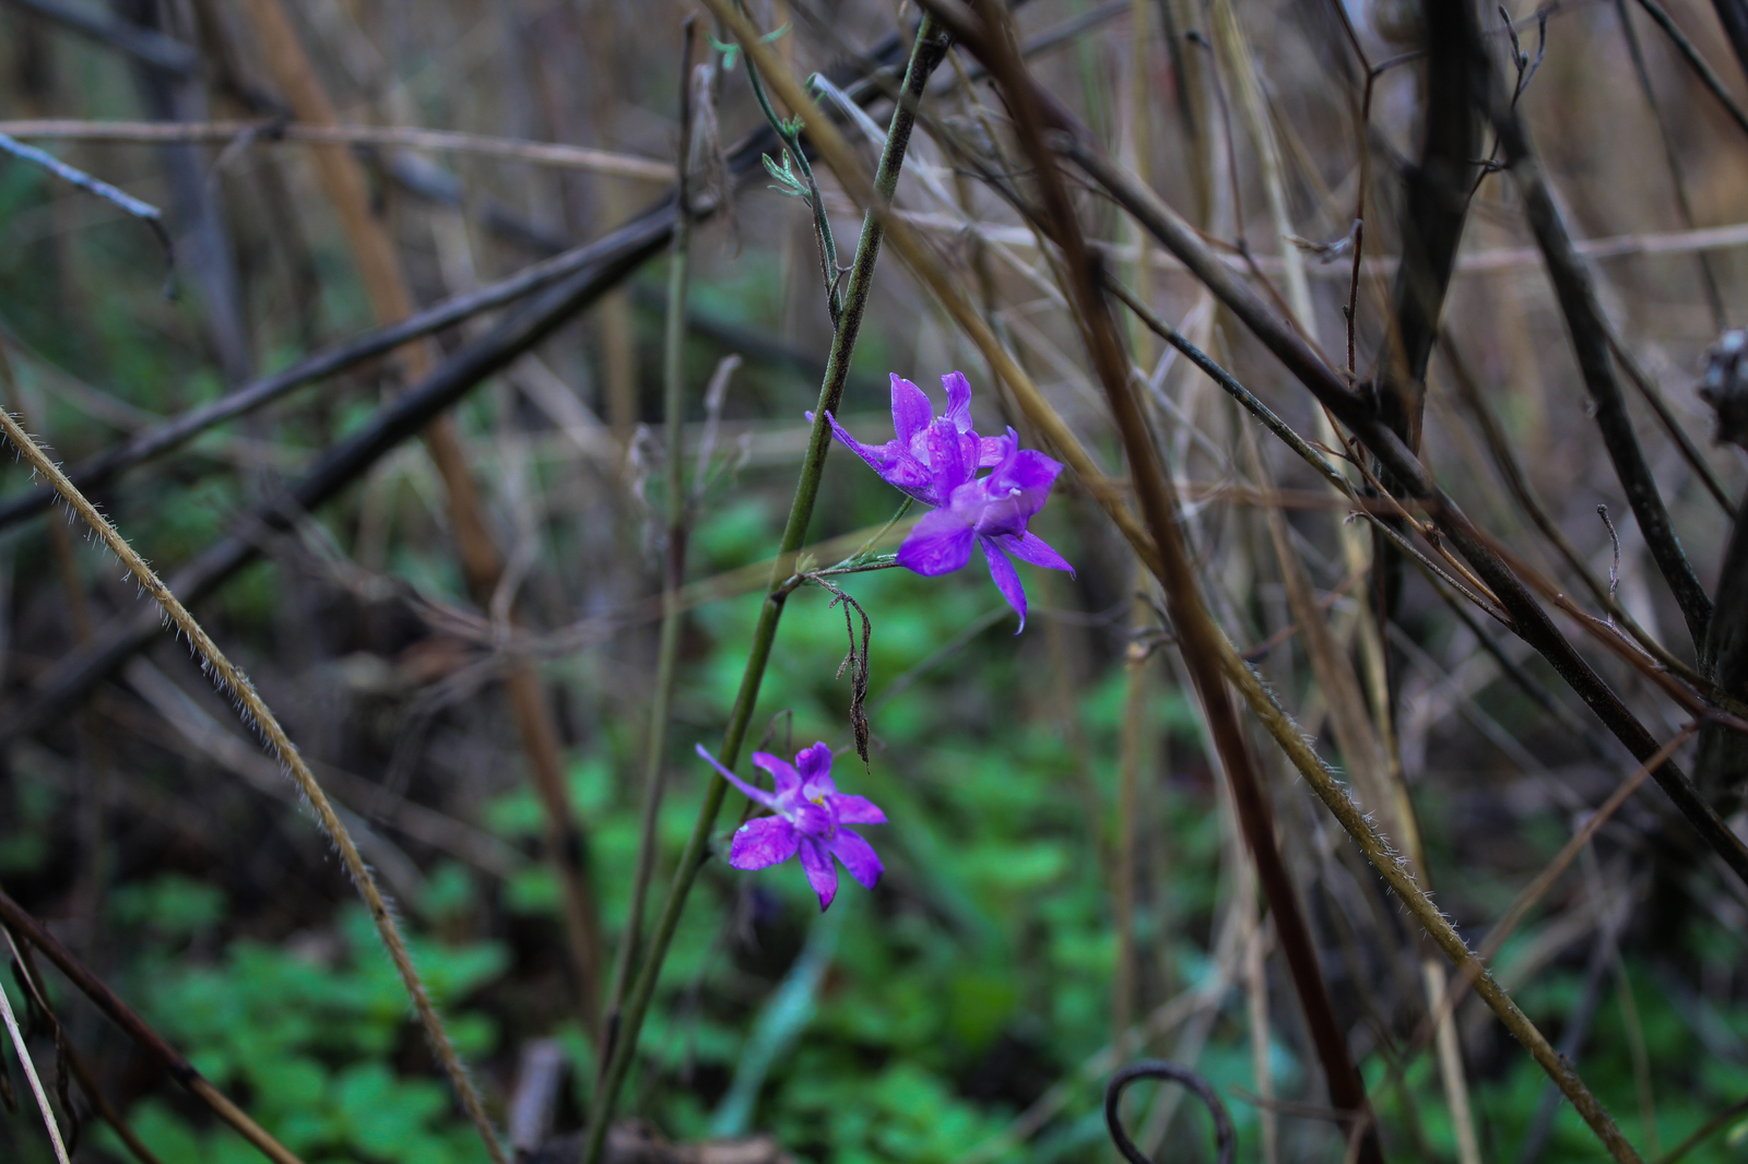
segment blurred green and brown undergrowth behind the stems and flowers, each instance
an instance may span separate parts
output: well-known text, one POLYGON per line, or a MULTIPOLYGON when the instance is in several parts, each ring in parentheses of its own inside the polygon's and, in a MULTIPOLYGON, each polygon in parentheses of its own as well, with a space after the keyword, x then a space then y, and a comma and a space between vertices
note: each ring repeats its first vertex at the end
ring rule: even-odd
MULTIPOLYGON (((255 49, 241 9, 217 0, 66 3, 198 45, 208 72, 184 119, 278 112, 271 86, 252 72, 255 49)), ((559 140, 647 159, 673 154, 671 94, 685 5, 309 0, 287 7, 343 121, 559 140)), ((846 45, 890 31, 898 5, 794 0, 752 7, 766 26, 788 21, 783 52, 816 68, 839 59, 846 45)), ((1687 28, 1704 30, 1696 40, 1741 93, 1710 5, 1682 0, 1669 9, 1687 28)), ((1274 0, 1246 0, 1236 10, 1253 37, 1250 51, 1271 115, 1290 145, 1288 194, 1301 232, 1339 238, 1358 177, 1346 98, 1337 96, 1351 75, 1335 65, 1341 42, 1332 17, 1321 5, 1274 0)), ((1168 199, 1189 208, 1197 185, 1175 84, 1185 68, 1182 52, 1196 42, 1168 42, 1162 16, 1173 12, 1182 38, 1183 28, 1206 26, 1210 5, 1169 0, 1092 9, 1079 0, 1038 0, 1019 19, 1023 30, 1038 31, 1098 16, 1037 68, 1113 142, 1133 142, 1136 110, 1152 110, 1141 122, 1154 145, 1150 177, 1168 199)), ((1379 59, 1411 42, 1404 37, 1412 28, 1400 24, 1407 5, 1376 0, 1351 3, 1349 12, 1379 59)), ((1662 145, 1620 35, 1627 9, 1578 0, 1542 12, 1547 58, 1524 103, 1575 231, 1605 238, 1683 229, 1661 163, 1647 161, 1661 159, 1662 145)), ((1535 14, 1530 3, 1510 12, 1517 19, 1535 14)), ((1739 135, 1731 136, 1648 23, 1636 12, 1631 19, 1654 86, 1676 114, 1673 145, 1687 170, 1694 220, 1748 220, 1748 150, 1739 135)), ((30 5, 0 5, 0 45, 7 119, 161 117, 152 112, 163 108, 154 96, 161 79, 30 5)), ((1407 68, 1379 82, 1374 129, 1386 159, 1400 161, 1414 149, 1416 84, 1407 68)), ((993 103, 988 93, 979 100, 993 103)), ((965 115, 970 107, 951 96, 944 110, 965 115)), ((722 80, 720 121, 725 140, 757 124, 743 73, 722 80)), ((1274 255, 1255 154, 1248 143, 1234 149, 1243 206, 1255 218, 1238 225, 1248 227, 1259 253, 1274 255)), ((301 145, 199 147, 198 178, 224 211, 224 259, 191 241, 198 224, 177 208, 192 194, 185 180, 178 185, 164 147, 65 142, 54 152, 170 206, 180 264, 180 294, 166 299, 163 253, 138 224, 33 166, 0 161, 5 405, 23 411, 58 458, 98 453, 156 418, 236 386, 218 357, 227 339, 205 290, 212 283, 201 281, 213 264, 227 266, 238 287, 239 336, 232 339, 257 374, 372 323, 301 145)), ((919 143, 918 156, 946 164, 930 143, 919 143)), ((420 302, 549 253, 542 239, 598 238, 659 194, 643 180, 465 152, 365 149, 360 159, 420 302), (454 178, 465 197, 434 199, 428 184, 421 192, 420 164, 454 178)), ((1384 241, 1370 253, 1395 253, 1390 184, 1397 177, 1383 163, 1379 171, 1376 238, 1384 241)), ((900 189, 902 206, 935 208, 900 189)), ((1197 213, 1231 236, 1234 206, 1225 197, 1224 218, 1213 204, 1197 213)), ((827 201, 839 238, 853 238, 857 218, 830 184, 827 201)), ((979 220, 1012 224, 988 194, 972 206, 979 220)), ((1089 218, 1096 213, 1089 206, 1089 218)), ((974 246, 951 232, 944 238, 974 285, 974 246)), ((1374 238, 1370 225, 1367 238, 1374 238)), ((1467 246, 1503 252, 1523 239, 1510 192, 1489 180, 1467 246)), ((1706 252, 1725 306, 1736 311, 1748 302, 1741 243, 1706 252)), ((722 470, 692 531, 689 577, 752 580, 697 605, 683 624, 657 888, 666 884, 708 778, 692 745, 718 738, 757 619, 759 596, 748 591, 762 585, 762 575, 732 572, 774 552, 804 440, 802 411, 813 402, 830 334, 811 245, 806 215, 757 185, 731 222, 703 229, 696 245, 696 327, 685 350, 694 428, 704 421, 703 385, 717 360, 745 351, 748 364, 727 395, 722 470)), ((1115 440, 1103 428, 1094 432, 1099 405, 1077 371, 1066 316, 1019 273, 1031 259, 1028 252, 1026 260, 1002 266, 991 294, 1052 398, 1115 467, 1115 440)), ((1683 426, 1703 440, 1706 419, 1690 385, 1717 329, 1694 262, 1692 250, 1612 259, 1603 287, 1683 426)), ((1311 432, 1304 393, 1260 350, 1229 320, 1217 320, 1192 283, 1178 274, 1154 278, 1162 311, 1185 330, 1201 329, 1246 383, 1311 432)), ((491 378, 454 409, 500 547, 524 563, 519 598, 528 624, 552 631, 615 619, 610 633, 582 648, 551 652, 540 671, 608 940, 626 923, 654 682, 654 624, 647 613, 626 612, 647 610, 640 599, 661 585, 661 449, 656 437, 638 432, 661 421, 662 287, 661 264, 650 264, 622 294, 542 344, 537 365, 491 378), (607 435, 608 453, 598 444, 579 451, 561 432, 561 421, 538 404, 538 386, 530 386, 542 378, 559 385, 607 435)), ((1330 343, 1339 336, 1346 280, 1316 274, 1314 290, 1330 343)), ((1362 304, 1362 315, 1369 311, 1362 304)), ((1606 568, 1608 540, 1594 507, 1626 509, 1587 440, 1582 386, 1545 281, 1526 262, 1465 274, 1449 313, 1563 528, 1606 568)), ((1376 318, 1362 320, 1362 339, 1374 341, 1381 330, 1376 318)), ((453 351, 472 334, 472 325, 458 327, 439 341, 453 351)), ((1143 367, 1161 357, 1150 343, 1138 341, 1138 348, 1148 353, 1143 367)), ((974 351, 888 262, 857 351, 846 425, 864 439, 883 430, 886 372, 932 388, 953 367, 977 385, 981 428, 998 430, 1009 418, 974 351)), ((1169 364, 1161 372, 1178 409, 1168 460, 1180 484, 1192 486, 1190 523, 1210 587, 1229 631, 1241 645, 1260 645, 1253 659, 1332 752, 1325 696, 1299 648, 1283 638, 1290 617, 1264 517, 1250 500, 1224 498, 1215 488, 1231 484, 1232 465, 1245 463, 1243 421, 1185 372, 1169 364)), ((402 376, 392 362, 351 369, 131 472, 101 502, 147 558, 173 570, 229 531, 246 505, 367 423, 399 391, 402 376)), ((1526 537, 1440 371, 1428 446, 1465 505, 1509 537, 1526 537)), ((1276 456, 1271 449, 1283 488, 1311 488, 1302 467, 1276 456)), ((1708 458, 1739 495, 1745 475, 1734 453, 1708 451, 1708 458)), ((1710 580, 1725 519, 1668 447, 1659 446, 1654 460, 1696 566, 1710 580)), ((35 488, 21 467, 0 474, 0 500, 35 488)), ((893 503, 886 486, 837 451, 809 540, 876 526, 893 503)), ((1308 503, 1292 512, 1292 535, 1351 633, 1339 517, 1308 503)), ((28 697, 93 627, 142 601, 79 530, 58 540, 61 523, 56 512, 0 535, 0 662, 12 701, 28 697)), ((1647 626, 1678 626, 1668 594, 1647 580, 1643 542, 1629 523, 1620 524, 1622 601, 1647 626)), ((624 1105, 662 1136, 703 1141, 764 1131, 797 1159, 846 1164, 1110 1159, 1099 1096, 1113 1066, 1113 1024, 1159 1019, 1145 1028, 1143 1045, 1196 1063, 1229 1098, 1241 1159, 1264 1159, 1262 1122, 1271 1112, 1278 1159, 1341 1159, 1341 1136, 1316 1119, 1325 1099, 1285 968, 1267 960, 1246 993, 1243 947, 1257 925, 1255 886, 1178 664, 1169 650, 1155 650, 1126 666, 1131 648, 1148 641, 1134 629, 1157 629, 1150 612, 1131 613, 1133 563, 1072 482, 1035 528, 1079 575, 1026 573, 1033 620, 1019 638, 979 566, 947 579, 888 572, 846 584, 874 624, 869 769, 844 752, 850 689, 837 676, 846 648, 841 612, 827 608, 820 591, 790 599, 755 743, 762 738, 769 750, 794 753, 825 739, 841 750, 839 786, 869 795, 890 816, 890 825, 871 830, 886 877, 874 893, 846 881, 822 916, 794 867, 760 874, 739 874, 724 862, 706 867, 666 961, 624 1105), (1119 767, 1133 724, 1140 724, 1143 762, 1133 813, 1126 813, 1119 767), (1129 953, 1115 905, 1124 846, 1133 846, 1134 876, 1129 953), (1127 982, 1127 998, 1113 998, 1122 989, 1113 982, 1127 982), (1269 1017, 1260 1042, 1259 994, 1269 1017), (1266 1089, 1285 1106, 1260 1101, 1266 1089)), ((561 888, 542 862, 544 809, 502 689, 489 673, 468 669, 489 662, 491 626, 468 598, 442 482, 421 447, 393 453, 339 502, 311 514, 299 537, 276 540, 267 561, 203 601, 198 613, 245 664, 318 774, 339 773, 351 788, 383 790, 378 800, 351 802, 355 792, 341 799, 374 835, 369 858, 395 897, 416 961, 491 1110, 503 1117, 526 1082, 528 1049, 552 1040, 566 1068, 542 1131, 575 1129, 589 1099, 594 1049, 575 1014, 561 888), (434 844, 428 832, 397 825, 404 814, 397 818, 392 806, 407 802, 442 814, 454 825, 444 835, 461 841, 434 844)), ((1407 659, 1398 725, 1404 773, 1439 902, 1479 942, 1571 835, 1578 813, 1629 769, 1606 743, 1589 746, 1596 741, 1587 745, 1543 715, 1418 579, 1409 582, 1398 626, 1407 659)), ((75 713, 10 739, 0 769, 0 884, 49 919, 308 1164, 484 1161, 432 1066, 369 918, 308 811, 288 785, 264 793, 246 766, 199 743, 189 724, 217 724, 232 741, 246 729, 182 641, 166 636, 143 659, 75 713), (166 717, 171 704, 182 708, 180 718, 166 717)), ((1557 685, 1540 661, 1519 662, 1557 685)), ((1647 683, 1612 678, 1634 706, 1655 704, 1647 683)), ((1570 696, 1561 701, 1577 706, 1570 696)), ((1659 710, 1654 722, 1676 720, 1659 710)), ((1591 731, 1599 739, 1599 729, 1591 731)), ((1269 757, 1288 858, 1384 1143, 1395 1159, 1454 1161, 1437 1063, 1425 1040, 1416 1040, 1425 996, 1412 923, 1271 748, 1260 745, 1259 753, 1269 757)), ((1550 1036, 1561 1038, 1575 1021, 1587 1026, 1575 1050, 1578 1066, 1647 1159, 1748 1094, 1743 886, 1669 839, 1647 806, 1655 795, 1629 804, 1598 835, 1496 960, 1550 1036)), ((731 814, 743 807, 731 800, 731 814)), ((720 844, 734 820, 724 818, 720 844)), ((1267 944, 1267 926, 1262 933, 1267 944)), ((171 1089, 65 982, 49 975, 49 986, 72 1038, 166 1164, 259 1159, 171 1089)), ((17 984, 9 979, 0 987, 23 1012, 17 984)), ((1475 1000, 1460 1008, 1458 1028, 1482 1155, 1519 1159, 1545 1078, 1475 1000)), ((35 1029, 38 1061, 52 1075, 52 1040, 44 1042, 42 1029, 35 1029)), ((16 1063, 7 1071, 19 1105, 0 1117, 0 1155, 21 1164, 49 1161, 16 1063)), ((1166 1145, 1164 1159, 1208 1159, 1206 1119, 1192 1105, 1178 1108, 1175 1094, 1161 1092, 1140 1096, 1133 1108, 1133 1126, 1166 1145)), ((75 1115, 86 1124, 77 1159, 128 1159, 86 1105, 63 1112, 68 1122, 75 1115)), ((1591 1161, 1599 1148, 1561 1105, 1538 1159, 1591 1161)), ((1748 1120, 1727 1126, 1685 1159, 1748 1159, 1748 1120)))

